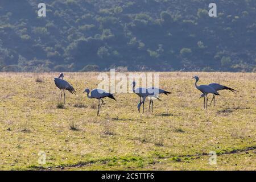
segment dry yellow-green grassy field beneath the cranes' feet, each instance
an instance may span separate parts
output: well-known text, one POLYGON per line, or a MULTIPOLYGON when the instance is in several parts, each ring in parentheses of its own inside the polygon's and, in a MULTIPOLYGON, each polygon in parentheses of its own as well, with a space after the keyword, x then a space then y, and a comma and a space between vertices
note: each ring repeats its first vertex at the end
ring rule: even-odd
POLYGON ((256 170, 256 73, 160 73, 160 88, 172 94, 154 102, 154 113, 138 113, 135 94, 115 94, 99 117, 97 100, 82 94, 97 88, 98 73, 65 73, 78 96, 66 92, 63 109, 58 75, 0 73, 0 169, 256 170), (239 92, 220 91, 204 110, 195 75, 199 85, 239 92))

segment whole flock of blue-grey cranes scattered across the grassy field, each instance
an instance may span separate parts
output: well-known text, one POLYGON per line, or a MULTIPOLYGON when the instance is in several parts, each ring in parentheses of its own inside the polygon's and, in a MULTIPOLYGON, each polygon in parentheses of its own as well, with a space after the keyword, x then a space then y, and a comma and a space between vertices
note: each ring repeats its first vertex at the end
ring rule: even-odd
MULTIPOLYGON (((55 85, 57 86, 57 88, 60 89, 60 102, 62 101, 62 96, 64 94, 64 103, 65 103, 65 90, 68 90, 70 93, 75 94, 76 95, 76 90, 73 88, 73 86, 71 84, 69 84, 69 82, 63 80, 64 78, 64 74, 60 73, 59 77, 54 78, 54 82, 55 85)), ((212 83, 209 85, 200 85, 197 86, 197 82, 199 81, 199 77, 195 76, 193 77, 196 79, 195 82, 195 86, 198 90, 201 91, 201 97, 204 97, 204 109, 206 107, 208 107, 208 94, 213 94, 213 105, 215 106, 215 96, 220 96, 220 94, 218 93, 219 90, 230 90, 233 93, 236 94, 236 92, 238 92, 237 90, 234 90, 232 88, 229 88, 228 86, 224 86, 224 85, 220 85, 220 84, 216 84, 216 83, 212 83), (206 102, 205 102, 206 101, 206 102)), ((132 82, 133 85, 133 93, 137 94, 139 96, 139 104, 137 105, 138 111, 141 111, 141 105, 143 104, 143 113, 144 113, 144 102, 146 100, 146 98, 150 98, 150 105, 148 107, 148 111, 150 111, 150 106, 151 106, 151 111, 153 112, 153 100, 154 99, 158 99, 160 101, 160 99, 158 98, 159 94, 170 94, 171 92, 167 92, 166 90, 163 89, 159 89, 159 88, 154 88, 154 87, 149 87, 149 88, 137 88, 135 89, 136 86, 136 82, 133 81, 132 82)), ((101 106, 103 105, 104 101, 102 100, 102 98, 105 97, 109 97, 115 101, 117 101, 115 99, 115 97, 113 96, 113 94, 106 92, 105 90, 101 90, 101 89, 93 89, 91 92, 89 89, 85 89, 83 93, 87 93, 87 97, 88 98, 96 98, 98 100, 98 111, 97 111, 97 115, 99 115, 100 113, 100 109, 101 106), (89 96, 90 93, 90 96, 89 96), (101 104, 100 104, 101 101, 101 104)), ((210 105, 212 104, 212 101, 210 102, 210 105)))

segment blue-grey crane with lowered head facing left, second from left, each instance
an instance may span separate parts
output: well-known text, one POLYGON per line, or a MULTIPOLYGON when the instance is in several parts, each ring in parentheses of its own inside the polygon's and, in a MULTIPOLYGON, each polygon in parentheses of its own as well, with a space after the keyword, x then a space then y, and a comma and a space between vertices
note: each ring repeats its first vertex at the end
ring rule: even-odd
POLYGON ((109 97, 115 101, 117 101, 113 94, 111 93, 108 93, 106 92, 105 90, 101 90, 101 89, 93 89, 92 92, 90 92, 89 89, 85 89, 83 93, 87 93, 87 97, 88 98, 97 98, 98 99, 98 112, 97 112, 97 115, 100 114, 100 109, 101 109, 101 106, 102 104, 104 103, 104 101, 102 100, 102 98, 105 98, 105 97, 109 97), (90 93, 90 96, 89 96, 89 93, 90 93), (100 100, 102 101, 101 105, 100 105, 100 100))

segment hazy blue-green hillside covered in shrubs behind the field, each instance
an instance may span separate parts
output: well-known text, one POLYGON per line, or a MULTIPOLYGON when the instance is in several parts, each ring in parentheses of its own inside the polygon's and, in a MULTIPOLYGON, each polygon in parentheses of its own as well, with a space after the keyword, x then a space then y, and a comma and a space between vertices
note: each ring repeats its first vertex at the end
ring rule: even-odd
POLYGON ((0 1, 0 71, 256 71, 256 1, 44 2, 0 1))

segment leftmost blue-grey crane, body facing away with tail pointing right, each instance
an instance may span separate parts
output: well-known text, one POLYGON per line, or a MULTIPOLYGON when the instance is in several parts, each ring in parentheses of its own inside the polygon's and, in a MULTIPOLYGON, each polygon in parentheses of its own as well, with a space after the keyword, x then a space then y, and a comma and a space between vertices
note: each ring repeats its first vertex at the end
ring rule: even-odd
POLYGON ((76 95, 76 90, 73 88, 73 86, 71 84, 69 84, 69 82, 63 80, 64 78, 64 74, 60 73, 60 76, 57 78, 54 78, 54 82, 55 85, 57 86, 57 88, 60 89, 60 102, 62 100, 62 90, 64 93, 64 103, 65 103, 65 90, 68 90, 70 93, 75 94, 76 95))

